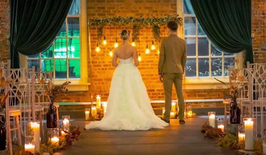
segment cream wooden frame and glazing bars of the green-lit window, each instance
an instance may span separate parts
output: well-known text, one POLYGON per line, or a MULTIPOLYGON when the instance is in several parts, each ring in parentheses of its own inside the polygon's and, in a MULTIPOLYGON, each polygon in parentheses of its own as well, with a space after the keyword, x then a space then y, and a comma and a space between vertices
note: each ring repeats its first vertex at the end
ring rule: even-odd
MULTIPOLYGON (((66 47, 67 47, 67 51, 68 51, 68 39, 69 38, 79 38, 80 39, 80 57, 78 58, 70 58, 68 57, 68 52, 67 52, 67 57, 65 58, 55 58, 54 56, 54 48, 55 48, 55 40, 52 43, 52 47, 53 47, 53 57, 52 58, 41 58, 41 53, 39 53, 39 58, 27 58, 27 56, 24 55, 20 55, 20 59, 22 62, 22 66, 24 68, 27 68, 27 60, 39 60, 39 64, 40 64, 40 69, 42 67, 42 60, 53 60, 53 79, 54 79, 54 83, 55 84, 60 84, 62 82, 65 81, 71 81, 71 85, 90 85, 90 83, 88 83, 88 68, 87 68, 87 1, 86 0, 79 0, 80 2, 80 7, 79 7, 79 11, 80 14, 68 14, 67 18, 65 19, 65 23, 66 23, 66 36, 65 37, 56 37, 55 40, 57 38, 66 38, 67 39, 67 43, 66 43, 66 47), (68 31, 68 24, 67 24, 67 20, 68 17, 79 17, 79 28, 80 28, 80 35, 78 37, 69 37, 67 35, 67 31, 68 31), (59 79, 59 78, 55 78, 55 60, 66 60, 66 65, 67 65, 67 70, 69 70, 69 60, 80 60, 80 78, 70 78, 69 79, 69 72, 67 71, 67 78, 66 79, 59 79)), ((84 87, 84 90, 88 90, 88 87, 84 87)))

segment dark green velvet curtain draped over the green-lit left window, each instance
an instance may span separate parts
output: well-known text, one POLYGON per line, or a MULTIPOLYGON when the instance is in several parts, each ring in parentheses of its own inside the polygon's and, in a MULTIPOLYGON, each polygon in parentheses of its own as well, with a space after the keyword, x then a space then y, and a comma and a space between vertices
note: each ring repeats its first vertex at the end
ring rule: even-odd
POLYGON ((11 67, 19 68, 19 52, 34 55, 56 38, 73 0, 9 0, 11 67))

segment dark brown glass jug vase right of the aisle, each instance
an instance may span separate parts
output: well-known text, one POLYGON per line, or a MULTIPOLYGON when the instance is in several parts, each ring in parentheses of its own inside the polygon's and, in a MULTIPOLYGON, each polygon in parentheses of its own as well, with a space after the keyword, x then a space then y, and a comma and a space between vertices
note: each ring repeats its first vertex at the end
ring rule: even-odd
POLYGON ((236 104, 236 100, 230 103, 229 119, 231 124, 240 124, 240 108, 236 104))

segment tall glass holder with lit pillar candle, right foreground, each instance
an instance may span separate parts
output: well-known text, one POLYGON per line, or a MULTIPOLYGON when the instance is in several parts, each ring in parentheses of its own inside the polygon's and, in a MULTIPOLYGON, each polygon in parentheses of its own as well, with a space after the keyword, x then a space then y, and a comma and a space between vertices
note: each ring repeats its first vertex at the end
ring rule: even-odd
POLYGON ((243 118, 245 133, 245 150, 254 149, 254 118, 243 118))

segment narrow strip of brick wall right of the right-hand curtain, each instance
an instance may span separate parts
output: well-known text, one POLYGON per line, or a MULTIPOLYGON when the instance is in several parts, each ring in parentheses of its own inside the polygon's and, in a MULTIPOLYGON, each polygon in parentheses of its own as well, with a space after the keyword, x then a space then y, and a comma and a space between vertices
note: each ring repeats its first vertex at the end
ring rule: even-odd
POLYGON ((254 62, 266 63, 266 1, 252 0, 252 33, 254 62))

